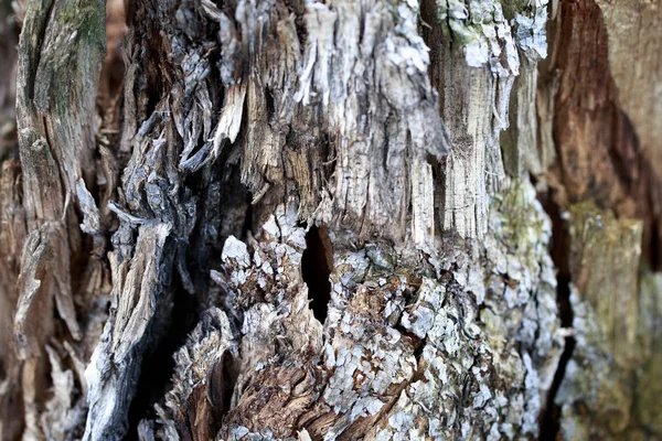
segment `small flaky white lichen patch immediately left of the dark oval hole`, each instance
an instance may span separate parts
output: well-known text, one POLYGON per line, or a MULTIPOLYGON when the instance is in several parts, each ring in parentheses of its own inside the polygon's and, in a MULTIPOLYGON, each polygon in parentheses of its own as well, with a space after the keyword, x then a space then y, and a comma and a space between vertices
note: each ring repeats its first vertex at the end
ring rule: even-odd
MULTIPOLYGON (((296 357, 322 351, 322 326, 308 306, 308 287, 301 276, 305 249, 306 229, 298 226, 296 211, 285 205, 267 218, 249 244, 234 237, 225 241, 223 267, 213 278, 224 288, 228 304, 244 311, 233 406, 241 402, 241 391, 255 376, 280 363, 285 354, 296 357)), ((228 433, 243 430, 233 427, 226 428, 228 433)))

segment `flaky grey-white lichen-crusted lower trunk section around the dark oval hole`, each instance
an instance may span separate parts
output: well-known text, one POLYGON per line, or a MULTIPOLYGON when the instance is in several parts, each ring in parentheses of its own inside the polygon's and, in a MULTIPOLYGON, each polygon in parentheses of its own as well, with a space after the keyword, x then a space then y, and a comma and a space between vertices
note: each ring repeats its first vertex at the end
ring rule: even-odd
POLYGON ((307 304, 296 211, 277 208, 248 244, 228 238, 213 277, 245 312, 220 439, 535 438, 563 347, 551 225, 527 183, 493 208, 483 246, 445 241, 438 256, 331 235, 323 324, 307 304))

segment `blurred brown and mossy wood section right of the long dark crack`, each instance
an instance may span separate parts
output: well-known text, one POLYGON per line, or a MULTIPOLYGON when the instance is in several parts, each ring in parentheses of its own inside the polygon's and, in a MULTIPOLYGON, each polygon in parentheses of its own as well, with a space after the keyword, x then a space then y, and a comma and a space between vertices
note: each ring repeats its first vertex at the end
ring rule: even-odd
POLYGON ((651 395, 641 394, 659 390, 650 369, 659 361, 652 322, 660 292, 649 268, 660 266, 660 139, 652 123, 660 61, 655 51, 644 55, 658 39, 650 32, 656 20, 644 2, 572 0, 559 2, 549 25, 540 139, 556 154, 546 179, 554 209, 565 212, 565 222, 556 218, 566 241, 555 261, 574 330, 551 399, 557 406, 548 409, 563 439, 660 437, 662 420, 643 410, 654 408, 651 395))

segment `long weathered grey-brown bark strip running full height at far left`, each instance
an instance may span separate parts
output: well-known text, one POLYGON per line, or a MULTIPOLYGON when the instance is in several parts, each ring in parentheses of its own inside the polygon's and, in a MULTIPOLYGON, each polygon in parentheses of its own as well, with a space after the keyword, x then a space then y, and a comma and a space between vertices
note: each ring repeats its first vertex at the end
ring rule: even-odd
MULTIPOLYGON (((82 232, 104 240, 88 187, 96 186, 94 101, 105 51, 105 9, 96 1, 34 1, 25 8, 17 79, 24 214, 11 219, 10 228, 20 230, 19 224, 25 223, 28 234, 10 237, 22 255, 15 286, 6 291, 15 290, 17 299, 15 346, 8 346, 18 357, 9 368, 20 372, 11 380, 22 388, 24 438, 61 438, 75 435, 85 419, 85 386, 78 370, 75 391, 74 374, 64 372, 57 349, 49 345, 57 338, 62 351, 70 342, 78 346, 78 353, 72 349, 73 363, 84 351, 84 336, 95 334, 88 322, 94 318, 86 316, 93 304, 84 292, 74 292, 70 266, 86 252, 82 232), (66 329, 58 325, 55 311, 66 329), (67 383, 58 384, 63 376, 67 383), (54 396, 49 379, 57 385, 54 396), (62 426, 54 428, 52 421, 62 426)), ((84 267, 93 265, 85 259, 84 267)))

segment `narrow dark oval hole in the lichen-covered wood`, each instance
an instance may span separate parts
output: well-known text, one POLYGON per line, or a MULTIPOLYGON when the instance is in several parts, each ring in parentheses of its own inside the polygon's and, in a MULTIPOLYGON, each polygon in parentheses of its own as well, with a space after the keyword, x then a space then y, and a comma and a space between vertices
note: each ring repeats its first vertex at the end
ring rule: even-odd
POLYGON ((314 318, 327 320, 331 300, 329 275, 333 269, 333 249, 325 227, 312 226, 306 234, 306 250, 301 257, 301 273, 308 286, 308 299, 314 318))

